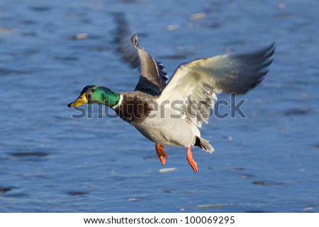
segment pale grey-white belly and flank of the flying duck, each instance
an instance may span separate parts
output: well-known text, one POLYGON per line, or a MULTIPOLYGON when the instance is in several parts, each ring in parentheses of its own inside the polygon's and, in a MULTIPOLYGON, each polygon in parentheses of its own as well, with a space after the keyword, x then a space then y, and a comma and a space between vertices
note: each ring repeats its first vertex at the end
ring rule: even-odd
POLYGON ((147 139, 168 146, 194 146, 196 136, 201 136, 198 128, 185 117, 150 117, 133 126, 147 139))

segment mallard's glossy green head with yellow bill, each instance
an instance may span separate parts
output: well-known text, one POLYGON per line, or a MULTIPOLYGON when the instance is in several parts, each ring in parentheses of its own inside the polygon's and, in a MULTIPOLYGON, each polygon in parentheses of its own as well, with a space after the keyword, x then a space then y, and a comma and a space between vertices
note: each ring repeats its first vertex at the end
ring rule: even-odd
POLYGON ((120 94, 111 89, 105 88, 99 85, 89 85, 83 88, 79 98, 72 103, 69 103, 68 107, 77 107, 84 105, 85 103, 99 103, 113 107, 118 104, 120 100, 120 94))

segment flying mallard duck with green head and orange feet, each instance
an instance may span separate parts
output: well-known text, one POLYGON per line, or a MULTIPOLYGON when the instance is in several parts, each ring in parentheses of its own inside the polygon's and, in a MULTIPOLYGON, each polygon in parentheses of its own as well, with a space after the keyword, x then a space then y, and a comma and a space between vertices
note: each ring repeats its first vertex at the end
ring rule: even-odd
POLYGON ((138 35, 133 35, 131 41, 140 65, 140 79, 134 91, 118 93, 103 86, 89 85, 68 107, 99 103, 113 108, 125 122, 155 142, 162 165, 167 158, 164 146, 181 146, 186 147, 186 160, 197 172, 191 147, 198 146, 209 153, 214 151, 198 128, 202 122, 208 124, 216 93, 243 94, 257 86, 272 63, 274 43, 257 52, 186 62, 177 67, 166 83, 164 66, 140 47, 138 35))

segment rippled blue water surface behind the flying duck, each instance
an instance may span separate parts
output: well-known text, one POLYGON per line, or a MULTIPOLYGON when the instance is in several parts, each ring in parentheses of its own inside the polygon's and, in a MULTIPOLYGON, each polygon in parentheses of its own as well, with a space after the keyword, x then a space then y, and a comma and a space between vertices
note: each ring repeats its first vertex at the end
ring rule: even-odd
MULTIPOLYGON (((1 212, 319 211, 318 1, 0 1, 1 212), (213 155, 154 144, 118 119, 72 119, 87 84, 130 91, 113 13, 172 75, 181 62, 276 40, 240 117, 201 130, 213 155), (195 14, 201 13, 201 14, 195 14), (195 14, 195 15, 194 15, 195 14), (77 40, 74 35, 86 33, 77 40), (208 205, 208 206, 203 206, 208 205)), ((229 100, 229 95, 219 95, 229 100)))

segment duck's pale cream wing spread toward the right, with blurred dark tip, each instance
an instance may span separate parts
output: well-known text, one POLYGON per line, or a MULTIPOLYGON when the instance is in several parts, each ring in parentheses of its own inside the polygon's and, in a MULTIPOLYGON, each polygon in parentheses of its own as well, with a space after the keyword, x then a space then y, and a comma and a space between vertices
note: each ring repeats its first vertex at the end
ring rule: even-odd
POLYGON ((259 84, 272 63, 274 43, 248 54, 225 54, 181 64, 157 98, 179 105, 198 127, 208 123, 216 93, 246 93, 259 84), (178 104, 179 103, 179 104, 178 104))

